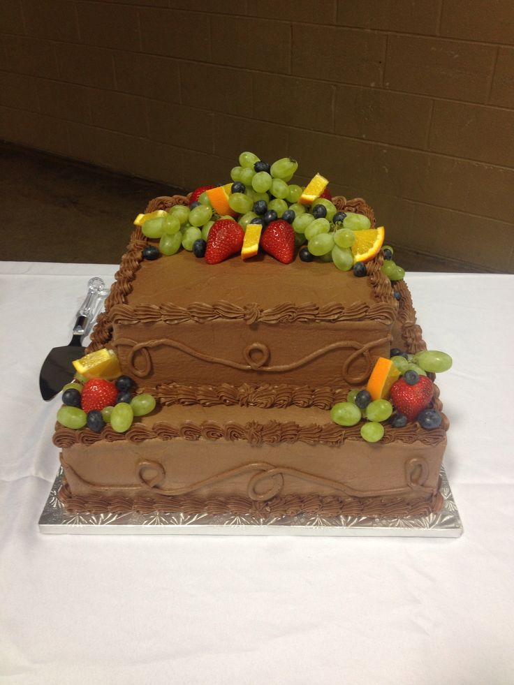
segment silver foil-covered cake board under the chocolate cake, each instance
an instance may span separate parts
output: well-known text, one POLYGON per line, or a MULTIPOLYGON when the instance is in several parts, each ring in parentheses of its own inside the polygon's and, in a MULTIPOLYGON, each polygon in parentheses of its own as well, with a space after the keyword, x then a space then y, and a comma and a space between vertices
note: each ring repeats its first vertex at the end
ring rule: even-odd
POLYGON ((441 469, 443 507, 436 514, 404 518, 371 518, 366 516, 322 517, 312 514, 272 517, 259 520, 251 515, 185 514, 152 512, 138 514, 69 513, 58 497, 63 479, 62 469, 39 519, 41 533, 71 535, 309 535, 309 536, 375 536, 458 538, 462 522, 450 490, 448 478, 441 469))

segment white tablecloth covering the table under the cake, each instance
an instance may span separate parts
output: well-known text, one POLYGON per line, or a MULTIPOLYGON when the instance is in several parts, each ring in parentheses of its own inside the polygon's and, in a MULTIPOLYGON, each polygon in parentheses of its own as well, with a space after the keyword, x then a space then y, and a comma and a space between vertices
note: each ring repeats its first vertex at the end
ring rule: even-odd
POLYGON ((51 536, 41 362, 110 265, 0 264, 1 682, 514 682, 514 277, 408 274, 459 539, 51 536))

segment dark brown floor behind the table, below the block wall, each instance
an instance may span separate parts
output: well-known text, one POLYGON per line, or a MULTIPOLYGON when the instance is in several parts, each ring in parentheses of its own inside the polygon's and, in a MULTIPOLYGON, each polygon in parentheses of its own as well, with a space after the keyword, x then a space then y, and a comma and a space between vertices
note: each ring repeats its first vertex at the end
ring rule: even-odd
MULTIPOLYGON (((116 264, 148 200, 183 189, 0 142, 2 260, 116 264)), ((407 271, 478 272, 395 245, 407 271)))

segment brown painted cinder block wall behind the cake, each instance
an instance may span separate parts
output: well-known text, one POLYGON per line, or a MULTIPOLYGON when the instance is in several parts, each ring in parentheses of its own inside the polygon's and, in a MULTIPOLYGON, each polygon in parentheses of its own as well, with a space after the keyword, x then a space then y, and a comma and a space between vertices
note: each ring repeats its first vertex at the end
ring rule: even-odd
POLYGON ((514 272, 513 0, 0 0, 0 137, 191 189, 250 149, 514 272))

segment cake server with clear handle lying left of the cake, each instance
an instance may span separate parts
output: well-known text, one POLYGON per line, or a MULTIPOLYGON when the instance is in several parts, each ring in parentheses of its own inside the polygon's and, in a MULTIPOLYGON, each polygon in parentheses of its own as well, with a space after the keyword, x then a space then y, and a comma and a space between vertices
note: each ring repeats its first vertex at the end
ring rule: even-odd
POLYGON ((96 319, 96 315, 107 295, 105 283, 101 278, 94 277, 87 283, 87 295, 77 312, 77 320, 73 326, 73 335, 68 345, 54 347, 47 354, 39 374, 39 389, 43 399, 52 399, 63 385, 73 378, 71 362, 84 356, 82 338, 84 338, 96 319))

